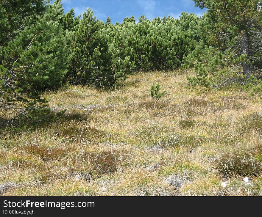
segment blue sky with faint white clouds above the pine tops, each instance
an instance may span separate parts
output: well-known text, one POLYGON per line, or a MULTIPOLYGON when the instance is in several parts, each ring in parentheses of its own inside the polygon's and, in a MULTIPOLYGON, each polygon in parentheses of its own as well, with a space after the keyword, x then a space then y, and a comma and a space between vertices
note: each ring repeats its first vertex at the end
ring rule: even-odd
POLYGON ((201 16, 205 10, 194 7, 192 0, 62 0, 65 12, 74 8, 75 15, 82 14, 90 7, 99 20, 121 23, 132 15, 138 20, 141 15, 152 20, 155 17, 172 16, 179 18, 181 12, 193 12, 201 16))

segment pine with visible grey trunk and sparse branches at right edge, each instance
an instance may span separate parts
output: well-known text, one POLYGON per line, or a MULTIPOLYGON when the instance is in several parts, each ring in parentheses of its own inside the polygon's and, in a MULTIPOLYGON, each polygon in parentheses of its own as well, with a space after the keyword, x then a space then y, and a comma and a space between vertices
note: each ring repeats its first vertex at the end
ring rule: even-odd
MULTIPOLYGON (((217 51, 201 54, 216 79, 213 86, 253 83, 262 75, 262 11, 261 1, 195 0, 196 5, 207 10, 212 37, 208 40, 217 51), (211 55, 210 55, 211 54, 211 55), (250 78, 250 79, 249 79, 250 78)), ((209 49, 213 51, 213 48, 209 49)), ((256 82, 255 82, 256 83, 256 82)))

